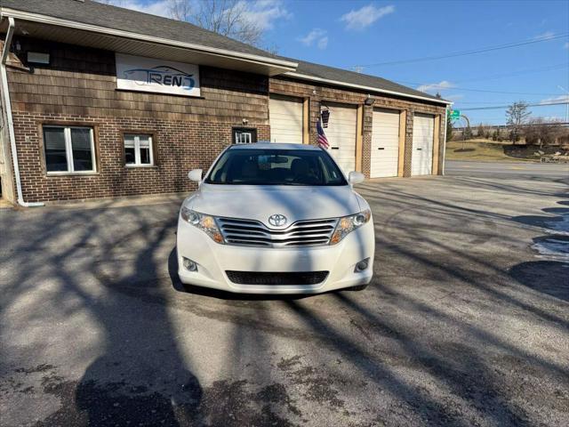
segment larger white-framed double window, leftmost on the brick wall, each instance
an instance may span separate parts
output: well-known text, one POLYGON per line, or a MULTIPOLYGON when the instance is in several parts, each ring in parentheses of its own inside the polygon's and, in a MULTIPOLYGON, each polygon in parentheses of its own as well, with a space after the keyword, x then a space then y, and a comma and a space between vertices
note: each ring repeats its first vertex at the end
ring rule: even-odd
POLYGON ((92 127, 44 125, 47 173, 96 172, 92 127))

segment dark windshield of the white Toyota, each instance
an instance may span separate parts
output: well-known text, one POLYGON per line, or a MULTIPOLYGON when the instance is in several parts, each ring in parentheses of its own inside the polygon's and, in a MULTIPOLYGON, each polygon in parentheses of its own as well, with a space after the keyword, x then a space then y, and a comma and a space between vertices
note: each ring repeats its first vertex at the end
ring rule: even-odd
POLYGON ((233 185, 348 185, 323 150, 228 149, 204 180, 233 185))

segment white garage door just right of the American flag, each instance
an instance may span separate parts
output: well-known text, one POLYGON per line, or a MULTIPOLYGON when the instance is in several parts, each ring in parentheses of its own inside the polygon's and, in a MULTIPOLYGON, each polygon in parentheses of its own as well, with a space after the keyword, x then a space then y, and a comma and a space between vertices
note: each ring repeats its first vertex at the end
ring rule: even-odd
POLYGON ((344 173, 356 170, 357 107, 325 104, 330 109, 328 127, 324 130, 330 143, 330 154, 344 173))

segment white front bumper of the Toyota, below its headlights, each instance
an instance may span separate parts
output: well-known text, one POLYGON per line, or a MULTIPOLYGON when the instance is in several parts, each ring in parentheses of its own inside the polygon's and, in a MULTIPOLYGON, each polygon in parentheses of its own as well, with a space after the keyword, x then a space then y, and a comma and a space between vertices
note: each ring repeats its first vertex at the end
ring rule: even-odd
POLYGON ((187 285, 211 287, 244 294, 317 294, 367 285, 373 277, 375 238, 373 221, 352 231, 333 246, 267 248, 220 245, 204 231, 178 222, 178 275, 187 285), (182 257, 197 264, 197 271, 183 266, 182 257), (357 262, 369 258, 367 269, 355 272, 357 262), (229 280, 226 271, 307 272, 329 271, 317 285, 242 285, 229 280))

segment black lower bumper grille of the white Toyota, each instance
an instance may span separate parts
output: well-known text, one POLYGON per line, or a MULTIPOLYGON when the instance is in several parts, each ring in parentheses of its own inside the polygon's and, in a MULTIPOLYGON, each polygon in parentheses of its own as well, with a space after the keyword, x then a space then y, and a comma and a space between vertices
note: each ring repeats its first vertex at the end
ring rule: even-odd
POLYGON ((259 272, 226 271, 237 285, 317 285, 325 281, 328 271, 259 272))

